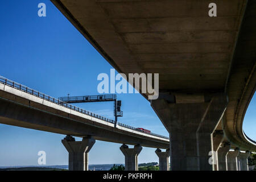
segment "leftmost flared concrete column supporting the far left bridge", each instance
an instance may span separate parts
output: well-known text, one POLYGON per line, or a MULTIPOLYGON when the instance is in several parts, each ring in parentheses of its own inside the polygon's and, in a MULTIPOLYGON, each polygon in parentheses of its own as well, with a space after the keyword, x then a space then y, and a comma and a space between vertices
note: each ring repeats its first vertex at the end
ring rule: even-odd
POLYGON ((75 141, 71 136, 61 140, 68 151, 69 171, 88 171, 88 152, 95 143, 93 137, 84 137, 82 141, 75 141))

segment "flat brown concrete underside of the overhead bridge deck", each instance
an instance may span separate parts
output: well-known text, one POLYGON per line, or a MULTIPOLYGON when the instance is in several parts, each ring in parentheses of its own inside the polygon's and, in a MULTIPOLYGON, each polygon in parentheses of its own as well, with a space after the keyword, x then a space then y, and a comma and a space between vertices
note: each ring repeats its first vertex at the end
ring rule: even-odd
POLYGON ((243 0, 52 0, 122 73, 160 73, 161 90, 219 90, 225 85, 245 7, 243 0))

